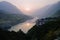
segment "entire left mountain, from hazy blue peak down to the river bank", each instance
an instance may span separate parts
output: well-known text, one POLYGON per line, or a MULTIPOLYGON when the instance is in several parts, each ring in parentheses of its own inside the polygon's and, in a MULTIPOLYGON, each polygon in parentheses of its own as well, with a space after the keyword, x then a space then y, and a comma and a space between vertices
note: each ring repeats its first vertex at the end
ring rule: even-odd
POLYGON ((16 6, 6 1, 0 2, 0 28, 9 29, 28 19, 31 17, 24 15, 16 6))

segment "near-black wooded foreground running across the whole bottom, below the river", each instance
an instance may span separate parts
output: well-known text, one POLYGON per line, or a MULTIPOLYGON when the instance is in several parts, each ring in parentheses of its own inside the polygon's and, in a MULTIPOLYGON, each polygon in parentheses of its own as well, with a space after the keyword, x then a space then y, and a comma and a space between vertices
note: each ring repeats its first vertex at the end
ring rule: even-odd
MULTIPOLYGON (((59 17, 58 17, 59 18, 59 17)), ((48 21, 43 25, 37 24, 26 34, 21 30, 9 32, 0 29, 0 40, 60 40, 60 19, 48 21)))

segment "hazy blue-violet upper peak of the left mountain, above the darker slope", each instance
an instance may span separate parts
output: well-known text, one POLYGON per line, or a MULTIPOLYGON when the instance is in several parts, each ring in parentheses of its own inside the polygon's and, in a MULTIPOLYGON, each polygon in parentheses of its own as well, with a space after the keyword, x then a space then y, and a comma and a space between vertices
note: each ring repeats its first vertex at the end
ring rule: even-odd
POLYGON ((0 2, 0 10, 3 10, 7 13, 13 13, 13 14, 22 14, 22 12, 13 4, 6 2, 6 1, 2 1, 0 2))

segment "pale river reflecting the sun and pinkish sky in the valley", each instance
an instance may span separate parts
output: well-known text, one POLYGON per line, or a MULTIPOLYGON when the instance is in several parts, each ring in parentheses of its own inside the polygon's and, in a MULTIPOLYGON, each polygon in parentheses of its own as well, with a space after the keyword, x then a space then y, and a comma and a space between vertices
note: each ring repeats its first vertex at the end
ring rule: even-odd
POLYGON ((20 29, 24 32, 27 33, 29 29, 31 29, 36 23, 36 20, 38 18, 33 18, 31 20, 27 20, 24 23, 20 23, 18 25, 13 26, 11 29, 9 29, 10 31, 19 31, 20 29))

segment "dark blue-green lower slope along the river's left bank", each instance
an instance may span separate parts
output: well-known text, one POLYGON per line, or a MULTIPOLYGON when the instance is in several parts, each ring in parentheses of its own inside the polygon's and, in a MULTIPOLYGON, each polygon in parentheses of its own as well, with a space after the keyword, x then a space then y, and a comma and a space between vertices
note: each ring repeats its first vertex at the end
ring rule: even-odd
POLYGON ((29 16, 22 14, 7 14, 3 11, 0 12, 0 28, 9 29, 14 25, 22 23, 28 19, 31 19, 29 16))

